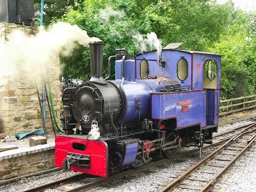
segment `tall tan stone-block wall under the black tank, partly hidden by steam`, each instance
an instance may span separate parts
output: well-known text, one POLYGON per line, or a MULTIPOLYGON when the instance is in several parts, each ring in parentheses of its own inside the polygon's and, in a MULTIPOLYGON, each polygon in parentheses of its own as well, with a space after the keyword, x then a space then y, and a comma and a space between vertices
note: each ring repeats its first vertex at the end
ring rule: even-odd
MULTIPOLYGON (((15 29, 22 29, 28 35, 34 35, 38 31, 36 27, 0 23, 0 38, 8 41, 8 36, 15 29)), ((54 110, 58 120, 60 111, 59 58, 57 56, 52 58, 52 62, 54 65, 51 66, 54 67, 50 67, 50 83, 54 100, 54 110)), ((22 63, 17 64, 22 65, 22 63)), ((47 72, 45 74, 47 79, 47 72)), ((33 83, 28 83, 31 82, 32 75, 26 74, 20 68, 17 75, 0 76, 0 133, 16 135, 18 133, 44 129, 35 86, 36 81, 40 98, 42 99, 42 77, 36 77, 36 79, 32 79, 33 83)), ((48 89, 48 84, 46 84, 46 87, 48 89)), ((47 102, 46 106, 48 106, 47 102)), ((46 114, 48 131, 52 131, 48 107, 46 107, 46 114)))

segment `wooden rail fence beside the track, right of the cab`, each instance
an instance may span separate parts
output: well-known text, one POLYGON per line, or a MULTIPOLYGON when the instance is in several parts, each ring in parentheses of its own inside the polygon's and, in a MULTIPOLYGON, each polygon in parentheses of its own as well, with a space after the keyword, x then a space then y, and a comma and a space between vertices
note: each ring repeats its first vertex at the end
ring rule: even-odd
POLYGON ((220 116, 256 108, 256 94, 220 101, 220 116))

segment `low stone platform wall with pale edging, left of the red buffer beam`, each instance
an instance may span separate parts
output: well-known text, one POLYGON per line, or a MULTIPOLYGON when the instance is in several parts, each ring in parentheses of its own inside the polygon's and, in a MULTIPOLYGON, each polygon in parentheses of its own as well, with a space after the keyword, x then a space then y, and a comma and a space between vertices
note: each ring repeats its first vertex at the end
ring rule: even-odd
POLYGON ((54 143, 0 153, 0 180, 54 168, 54 143))

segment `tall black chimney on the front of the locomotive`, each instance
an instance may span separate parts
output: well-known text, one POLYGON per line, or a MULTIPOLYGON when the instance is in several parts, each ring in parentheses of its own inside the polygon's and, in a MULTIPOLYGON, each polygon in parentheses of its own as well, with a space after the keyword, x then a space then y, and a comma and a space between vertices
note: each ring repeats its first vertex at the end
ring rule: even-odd
POLYGON ((90 81, 106 84, 102 77, 103 41, 90 42, 91 79, 90 81))

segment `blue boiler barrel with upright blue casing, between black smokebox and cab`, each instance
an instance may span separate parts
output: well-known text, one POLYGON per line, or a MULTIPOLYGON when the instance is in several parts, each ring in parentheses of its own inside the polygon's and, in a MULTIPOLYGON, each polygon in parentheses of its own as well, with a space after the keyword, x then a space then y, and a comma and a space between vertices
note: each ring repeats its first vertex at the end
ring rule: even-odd
POLYGON ((111 81, 122 89, 126 109, 123 122, 139 122, 144 118, 151 118, 151 93, 163 89, 164 84, 158 79, 135 79, 135 61, 124 62, 124 82, 122 82, 122 60, 116 60, 116 80, 111 81))

